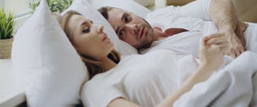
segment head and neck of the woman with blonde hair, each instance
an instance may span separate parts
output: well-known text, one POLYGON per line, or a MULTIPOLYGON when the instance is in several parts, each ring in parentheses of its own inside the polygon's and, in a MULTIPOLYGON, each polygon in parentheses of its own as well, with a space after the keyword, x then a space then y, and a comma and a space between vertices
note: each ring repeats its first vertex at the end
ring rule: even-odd
POLYGON ((59 22, 89 69, 89 78, 91 79, 94 75, 115 67, 120 60, 120 55, 113 49, 114 44, 103 32, 104 26, 95 25, 82 16, 75 16, 81 16, 81 14, 69 11, 59 18, 59 22), (71 24, 69 20, 75 22, 71 24))

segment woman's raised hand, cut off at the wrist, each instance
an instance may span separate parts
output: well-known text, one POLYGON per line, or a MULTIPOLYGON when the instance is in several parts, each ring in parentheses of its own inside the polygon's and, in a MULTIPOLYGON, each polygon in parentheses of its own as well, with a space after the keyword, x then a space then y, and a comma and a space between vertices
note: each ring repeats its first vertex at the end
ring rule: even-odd
MULTIPOLYGON (((223 64, 223 46, 216 44, 207 45, 208 39, 203 39, 200 46, 200 66, 205 67, 206 71, 213 71, 223 64)), ((226 44, 226 43, 225 43, 226 44)), ((222 44, 223 45, 223 44, 222 44)))

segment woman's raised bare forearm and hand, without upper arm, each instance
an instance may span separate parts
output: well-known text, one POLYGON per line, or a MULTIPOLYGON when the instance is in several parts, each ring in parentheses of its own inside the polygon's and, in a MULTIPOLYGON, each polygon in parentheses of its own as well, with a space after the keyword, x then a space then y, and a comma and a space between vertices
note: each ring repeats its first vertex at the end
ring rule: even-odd
POLYGON ((200 60, 201 64, 196 72, 187 79, 182 86, 171 96, 168 96, 158 107, 170 107, 184 93, 191 90, 194 84, 205 81, 211 74, 223 64, 223 52, 218 45, 206 45, 207 41, 201 43, 200 60))

